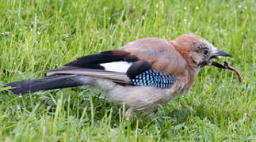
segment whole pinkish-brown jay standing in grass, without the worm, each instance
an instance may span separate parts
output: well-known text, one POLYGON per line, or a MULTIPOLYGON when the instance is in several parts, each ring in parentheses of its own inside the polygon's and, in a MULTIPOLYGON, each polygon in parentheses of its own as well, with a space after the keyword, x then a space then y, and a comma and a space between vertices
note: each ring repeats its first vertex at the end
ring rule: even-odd
MULTIPOLYGON (((89 54, 59 69, 46 70, 50 75, 35 80, 6 84, 15 95, 88 86, 117 106, 124 104, 125 116, 135 112, 148 114, 177 95, 189 92, 197 73, 213 58, 231 57, 206 39, 193 34, 177 39, 147 37, 136 39, 117 50, 89 54)), ((216 63, 216 62, 215 62, 216 63)))

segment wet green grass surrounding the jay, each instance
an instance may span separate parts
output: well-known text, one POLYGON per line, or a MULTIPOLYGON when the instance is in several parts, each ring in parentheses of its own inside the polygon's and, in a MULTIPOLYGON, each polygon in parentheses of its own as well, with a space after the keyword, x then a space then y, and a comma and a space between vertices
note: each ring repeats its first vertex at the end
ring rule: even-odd
POLYGON ((134 121, 86 88, 0 92, 0 141, 256 140, 255 12, 254 0, 1 1, 0 87, 134 39, 185 33, 230 53, 243 82, 205 67, 187 94, 134 121))

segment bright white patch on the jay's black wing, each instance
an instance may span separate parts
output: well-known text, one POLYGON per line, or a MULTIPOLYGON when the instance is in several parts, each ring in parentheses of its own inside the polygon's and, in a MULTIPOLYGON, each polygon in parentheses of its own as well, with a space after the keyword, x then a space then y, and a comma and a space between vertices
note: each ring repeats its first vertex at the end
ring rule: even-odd
POLYGON ((132 62, 109 62, 100 65, 107 71, 126 73, 127 69, 132 65, 132 62))

